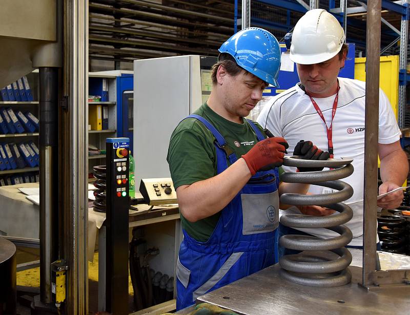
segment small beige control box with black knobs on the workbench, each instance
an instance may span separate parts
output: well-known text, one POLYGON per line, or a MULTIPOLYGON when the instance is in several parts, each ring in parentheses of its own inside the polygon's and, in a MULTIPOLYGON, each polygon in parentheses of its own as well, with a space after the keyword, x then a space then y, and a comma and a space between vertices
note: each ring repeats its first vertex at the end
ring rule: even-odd
POLYGON ((178 203, 171 178, 143 178, 139 192, 149 205, 178 203))

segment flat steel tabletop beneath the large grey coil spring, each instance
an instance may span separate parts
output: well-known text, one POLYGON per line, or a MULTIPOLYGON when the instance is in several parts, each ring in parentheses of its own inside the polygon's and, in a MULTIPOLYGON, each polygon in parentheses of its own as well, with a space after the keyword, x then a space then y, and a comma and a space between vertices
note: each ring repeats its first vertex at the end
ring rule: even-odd
POLYGON ((367 291, 361 267, 350 266, 352 282, 340 287, 310 287, 279 276, 278 264, 198 298, 239 314, 409 314, 410 285, 367 291))

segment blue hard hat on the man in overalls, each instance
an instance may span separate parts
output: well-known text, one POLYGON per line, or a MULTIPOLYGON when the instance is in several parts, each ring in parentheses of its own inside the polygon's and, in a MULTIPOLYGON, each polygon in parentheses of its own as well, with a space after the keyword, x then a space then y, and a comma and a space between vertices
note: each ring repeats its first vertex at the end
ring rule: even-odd
POLYGON ((219 52, 230 54, 239 67, 279 87, 276 80, 280 68, 279 43, 267 30, 258 27, 243 29, 223 43, 219 52))

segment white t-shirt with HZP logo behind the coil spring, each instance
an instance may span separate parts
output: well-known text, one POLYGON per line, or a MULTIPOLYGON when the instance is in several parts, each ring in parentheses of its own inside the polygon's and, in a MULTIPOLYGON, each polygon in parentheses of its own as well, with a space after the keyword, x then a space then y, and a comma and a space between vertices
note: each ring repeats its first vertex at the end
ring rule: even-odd
MULTIPOLYGON (((354 173, 341 179, 353 187, 352 198, 344 201, 354 212, 346 226, 352 230, 353 240, 349 245, 362 246, 363 235, 363 175, 364 175, 364 113, 365 82, 339 79, 339 100, 333 119, 334 157, 353 158, 354 173)), ((321 109, 327 126, 332 119, 332 108, 335 95, 325 98, 314 98, 321 109)), ((312 101, 299 85, 273 97, 262 109, 257 119, 262 128, 268 128, 275 136, 285 138, 289 143, 289 155, 292 155, 299 140, 310 140, 318 148, 328 151, 326 127, 313 107, 312 101)), ((393 109, 386 95, 379 93, 379 143, 389 144, 400 139, 393 109)), ((295 167, 283 166, 285 172, 295 172, 295 167)), ((311 185, 309 192, 313 194, 329 193, 330 188, 311 185)), ((300 213, 296 207, 290 207, 280 214, 300 213)), ((324 228, 303 229, 305 233, 321 238, 337 236, 324 228)))

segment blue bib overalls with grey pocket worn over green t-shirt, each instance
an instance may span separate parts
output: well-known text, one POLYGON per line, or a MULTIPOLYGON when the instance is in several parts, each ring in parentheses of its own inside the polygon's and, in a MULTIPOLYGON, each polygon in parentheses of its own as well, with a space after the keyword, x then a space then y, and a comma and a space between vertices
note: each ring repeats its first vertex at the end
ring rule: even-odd
MULTIPOLYGON (((212 132, 217 155, 217 172, 237 157, 226 152, 226 141, 206 119, 197 118, 212 132)), ((264 136, 248 120, 258 140, 264 136)), ((277 262, 276 228, 279 220, 279 174, 277 169, 257 172, 233 200, 222 209, 213 234, 198 242, 183 230, 176 270, 177 310, 197 297, 251 275, 277 262)))

